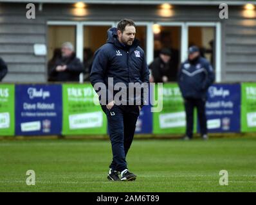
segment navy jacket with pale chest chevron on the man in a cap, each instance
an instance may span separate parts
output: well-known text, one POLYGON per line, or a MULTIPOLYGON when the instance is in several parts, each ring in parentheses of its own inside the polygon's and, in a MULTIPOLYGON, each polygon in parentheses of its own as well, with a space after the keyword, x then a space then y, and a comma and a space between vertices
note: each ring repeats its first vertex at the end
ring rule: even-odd
POLYGON ((178 72, 178 84, 184 98, 206 99, 207 90, 214 83, 214 70, 205 58, 195 63, 186 60, 178 72))

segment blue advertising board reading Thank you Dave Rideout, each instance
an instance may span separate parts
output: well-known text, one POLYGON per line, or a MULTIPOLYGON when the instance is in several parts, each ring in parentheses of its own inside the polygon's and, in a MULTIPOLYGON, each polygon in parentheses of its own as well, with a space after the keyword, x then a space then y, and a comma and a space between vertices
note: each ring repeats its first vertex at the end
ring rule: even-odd
POLYGON ((60 135, 61 85, 15 86, 15 135, 60 135))

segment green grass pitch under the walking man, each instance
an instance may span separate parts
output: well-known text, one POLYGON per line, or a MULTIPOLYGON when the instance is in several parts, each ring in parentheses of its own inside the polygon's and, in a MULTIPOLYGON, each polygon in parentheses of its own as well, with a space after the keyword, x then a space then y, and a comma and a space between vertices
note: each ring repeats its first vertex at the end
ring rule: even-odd
POLYGON ((0 192, 255 192, 256 138, 134 140, 131 182, 107 180, 108 140, 1 140, 0 192), (35 186, 26 171, 35 171, 35 186), (219 171, 228 185, 219 185, 219 171))

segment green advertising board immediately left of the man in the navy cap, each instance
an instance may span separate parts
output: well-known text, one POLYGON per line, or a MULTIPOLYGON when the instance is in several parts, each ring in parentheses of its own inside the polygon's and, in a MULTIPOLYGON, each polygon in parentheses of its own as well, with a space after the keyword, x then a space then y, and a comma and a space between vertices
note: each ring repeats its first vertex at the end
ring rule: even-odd
MULTIPOLYGON (((153 134, 185 134, 186 115, 178 85, 176 83, 163 84, 163 89, 161 86, 155 86, 152 97, 158 101, 158 106, 161 100, 163 102, 163 109, 153 112, 153 134)), ((154 105, 154 108, 156 107, 154 105)), ((194 131, 196 131, 196 118, 194 131)))

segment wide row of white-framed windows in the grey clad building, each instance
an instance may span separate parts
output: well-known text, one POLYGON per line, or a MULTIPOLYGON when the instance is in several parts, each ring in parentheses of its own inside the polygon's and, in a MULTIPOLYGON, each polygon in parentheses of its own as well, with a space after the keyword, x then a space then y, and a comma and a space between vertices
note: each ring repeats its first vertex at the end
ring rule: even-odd
MULTIPOLYGON (((93 53, 107 39, 107 29, 117 22, 48 22, 48 60, 63 42, 71 42, 80 60, 91 63, 93 53)), ((136 22, 136 38, 145 51, 147 62, 159 56, 162 48, 172 52, 170 78, 176 81, 181 61, 187 59, 188 46, 197 45, 201 54, 213 65, 216 81, 221 81, 221 24, 219 22, 136 22), (154 29, 156 25, 157 28, 154 29)), ((88 75, 84 75, 88 80, 88 75)))

